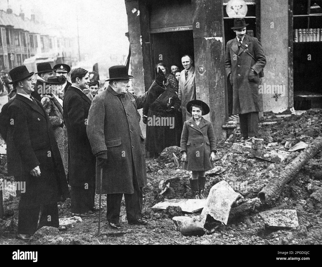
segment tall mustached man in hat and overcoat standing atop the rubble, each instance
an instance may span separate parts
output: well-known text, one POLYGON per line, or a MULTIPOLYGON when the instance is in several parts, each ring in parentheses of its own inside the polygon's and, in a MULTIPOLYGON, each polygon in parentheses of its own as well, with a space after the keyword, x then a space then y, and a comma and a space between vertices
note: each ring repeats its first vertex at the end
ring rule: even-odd
POLYGON ((246 34, 247 25, 243 18, 234 20, 236 38, 227 42, 225 66, 232 84, 232 114, 239 114, 241 135, 249 140, 258 134, 258 113, 263 111, 259 85, 266 58, 258 39, 246 34))

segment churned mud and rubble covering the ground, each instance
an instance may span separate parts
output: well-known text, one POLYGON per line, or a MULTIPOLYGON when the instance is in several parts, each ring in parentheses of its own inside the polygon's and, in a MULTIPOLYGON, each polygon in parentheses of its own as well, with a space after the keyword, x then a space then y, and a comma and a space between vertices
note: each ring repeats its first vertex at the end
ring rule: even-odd
MULTIPOLYGON (((157 159, 147 158, 147 186, 143 189, 142 214, 148 220, 144 226, 128 225, 124 202, 121 207, 120 231, 109 228, 105 207, 101 216, 101 235, 97 236, 98 214, 83 218, 72 224, 67 231, 39 229, 31 244, 322 244, 322 152, 317 153, 301 168, 298 174, 282 188, 276 201, 262 203, 258 198, 260 190, 279 178, 280 171, 291 163, 302 150, 289 152, 299 142, 310 145, 322 136, 322 111, 308 110, 302 115, 279 118, 276 123, 261 124, 260 138, 270 149, 285 151, 289 155, 282 161, 272 163, 260 159, 247 151, 232 149, 233 143, 244 143, 239 127, 217 145, 214 169, 207 172, 206 195, 220 181, 226 181, 232 189, 244 197, 242 203, 233 205, 227 225, 219 225, 212 234, 184 236, 173 223, 172 218, 186 216, 178 206, 167 210, 153 210, 152 207, 165 199, 189 199, 192 197, 190 172, 179 168, 175 157, 180 159, 180 148, 166 148, 157 159), (175 154, 175 157, 173 155, 175 154), (222 171, 224 170, 224 171, 222 171), (169 184, 167 186, 167 184, 169 184), (167 187, 167 188, 166 188, 167 187), (162 192, 162 190, 166 190, 162 192), (267 210, 295 210, 298 227, 271 229, 265 226, 260 216, 267 210)), ((6 157, 1 156, 0 178, 13 181, 6 172, 6 157)), ((15 191, 3 191, 5 216, 0 219, 0 243, 23 244, 15 239, 18 223, 19 199, 15 191)), ((96 195, 98 205, 99 195, 96 195)), ((59 216, 71 218, 70 199, 58 203, 59 216)), ((200 211, 193 214, 200 215, 200 211)), ((189 215, 190 216, 190 215, 189 215)))

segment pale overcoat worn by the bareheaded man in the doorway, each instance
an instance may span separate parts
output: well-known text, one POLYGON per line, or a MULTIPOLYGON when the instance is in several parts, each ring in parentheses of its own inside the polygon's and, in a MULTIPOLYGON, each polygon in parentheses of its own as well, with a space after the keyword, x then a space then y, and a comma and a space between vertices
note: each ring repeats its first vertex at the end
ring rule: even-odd
POLYGON ((182 120, 185 122, 191 118, 191 114, 186 111, 186 105, 190 100, 196 99, 196 86, 195 86, 195 69, 194 66, 188 71, 187 80, 185 79, 185 70, 180 73, 178 97, 181 100, 182 120))

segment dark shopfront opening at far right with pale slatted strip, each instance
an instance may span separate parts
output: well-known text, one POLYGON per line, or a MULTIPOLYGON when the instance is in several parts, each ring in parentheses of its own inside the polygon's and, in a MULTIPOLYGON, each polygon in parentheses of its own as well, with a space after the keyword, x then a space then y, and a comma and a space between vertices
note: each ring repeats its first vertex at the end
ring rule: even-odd
POLYGON ((322 1, 293 0, 295 110, 322 108, 322 1))

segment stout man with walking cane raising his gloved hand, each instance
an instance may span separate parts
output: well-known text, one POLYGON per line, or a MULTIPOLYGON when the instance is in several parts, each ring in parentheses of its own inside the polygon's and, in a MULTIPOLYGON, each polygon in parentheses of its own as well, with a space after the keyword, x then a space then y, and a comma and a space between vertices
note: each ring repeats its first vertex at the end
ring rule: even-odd
POLYGON ((96 183, 96 192, 107 194, 106 215, 113 229, 121 228, 118 220, 123 194, 128 223, 147 224, 141 215, 142 187, 147 184, 147 174, 137 110, 144 107, 149 92, 157 98, 165 90, 161 70, 141 96, 128 91, 132 78, 126 66, 110 67, 106 80, 109 86, 95 96, 88 115, 87 135, 97 157, 97 174, 102 167, 102 191, 96 183))

